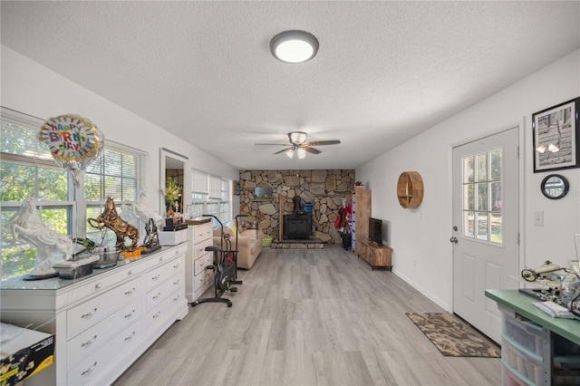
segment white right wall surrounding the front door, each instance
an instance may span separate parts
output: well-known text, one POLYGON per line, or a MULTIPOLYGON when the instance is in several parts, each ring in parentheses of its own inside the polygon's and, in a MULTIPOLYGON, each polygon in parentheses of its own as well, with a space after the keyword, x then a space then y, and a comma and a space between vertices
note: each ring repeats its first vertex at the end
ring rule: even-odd
POLYGON ((580 169, 557 171, 570 182, 565 198, 550 200, 541 194, 540 182, 548 173, 533 172, 531 116, 578 96, 580 52, 576 50, 356 169, 356 179, 372 189, 372 217, 389 222, 393 272, 452 311, 452 147, 516 127, 522 120, 520 261, 534 267, 549 259, 567 266, 575 258, 574 234, 580 233, 580 169), (397 200, 397 179, 405 170, 419 171, 423 179, 425 193, 416 209, 403 209, 397 200), (544 227, 534 226, 535 211, 544 211, 544 227))

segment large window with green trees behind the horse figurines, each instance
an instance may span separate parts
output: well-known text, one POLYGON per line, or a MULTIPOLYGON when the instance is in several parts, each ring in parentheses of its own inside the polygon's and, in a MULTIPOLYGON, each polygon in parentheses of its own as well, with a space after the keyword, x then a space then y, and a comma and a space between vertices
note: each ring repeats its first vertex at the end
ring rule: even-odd
MULTIPOLYGON (((36 248, 13 240, 9 230, 25 198, 38 199, 36 207, 47 227, 63 235, 89 236, 102 242, 103 232, 89 229, 86 219, 101 214, 107 196, 121 204, 137 200, 146 154, 105 141, 102 155, 87 168, 80 188, 74 189, 67 170, 59 167, 50 150, 37 140, 44 120, 5 108, 0 118, 0 279, 4 280, 34 269, 36 248)), ((136 224, 137 218, 130 218, 130 213, 132 216, 131 211, 120 211, 125 220, 136 224)))

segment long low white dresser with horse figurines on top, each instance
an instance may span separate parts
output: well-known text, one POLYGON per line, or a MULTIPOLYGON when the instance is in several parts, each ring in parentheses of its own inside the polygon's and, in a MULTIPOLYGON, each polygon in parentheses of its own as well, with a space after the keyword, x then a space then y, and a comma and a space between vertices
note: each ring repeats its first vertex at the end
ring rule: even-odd
POLYGON ((55 334, 54 363, 26 385, 111 384, 188 314, 188 243, 77 280, 2 283, 2 322, 55 334), (40 327, 39 327, 40 326, 40 327))

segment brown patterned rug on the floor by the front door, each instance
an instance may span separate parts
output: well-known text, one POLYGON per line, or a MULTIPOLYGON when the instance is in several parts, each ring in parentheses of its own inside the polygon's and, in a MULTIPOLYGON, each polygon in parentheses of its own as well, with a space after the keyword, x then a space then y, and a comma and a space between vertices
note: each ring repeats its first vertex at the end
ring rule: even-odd
POLYGON ((406 315, 445 356, 501 357, 498 346, 453 314, 406 315))

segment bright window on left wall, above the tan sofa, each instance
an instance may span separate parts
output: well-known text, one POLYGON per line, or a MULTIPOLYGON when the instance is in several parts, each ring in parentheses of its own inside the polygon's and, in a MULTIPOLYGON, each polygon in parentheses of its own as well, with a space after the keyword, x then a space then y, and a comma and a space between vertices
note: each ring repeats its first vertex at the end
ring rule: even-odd
POLYGON ((214 215, 221 222, 231 217, 231 180, 221 179, 203 171, 191 172, 191 209, 190 217, 214 215))

